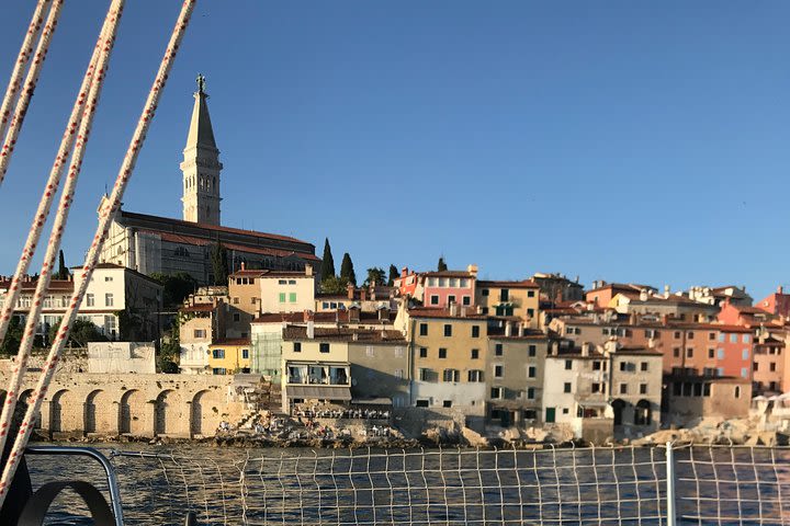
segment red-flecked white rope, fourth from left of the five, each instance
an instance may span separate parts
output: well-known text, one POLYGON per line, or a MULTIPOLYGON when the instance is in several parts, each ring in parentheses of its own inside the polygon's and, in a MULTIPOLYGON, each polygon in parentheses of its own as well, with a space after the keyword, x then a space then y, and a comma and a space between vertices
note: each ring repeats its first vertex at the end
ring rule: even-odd
MULTIPOLYGON (((64 184, 64 190, 60 195, 60 203, 58 205, 57 215, 55 216, 55 222, 49 235, 49 243, 47 245, 44 262, 40 272, 36 288, 33 294, 33 300, 31 302, 30 311, 27 312, 27 319, 25 321, 25 328, 22 333, 22 342, 20 343, 19 351, 16 353, 16 361, 14 363, 11 379, 8 385, 8 392, 5 395, 5 403, 2 408, 2 414, 0 415, 0 450, 3 450, 8 433, 10 431, 11 421, 13 419, 13 412, 16 407, 19 399, 19 389, 22 384, 22 378, 27 370, 27 357, 31 348, 33 347, 33 341, 35 339, 36 325, 38 324, 38 318, 41 316, 42 308, 44 306, 44 297, 49 288, 49 282, 52 279, 52 270, 55 266, 55 260, 57 259, 58 251, 60 250, 60 240, 63 232, 68 221, 69 210, 71 209, 71 202, 74 201, 74 194, 77 190, 77 180, 79 179, 80 168, 82 165, 82 159, 84 157, 86 146, 90 137, 91 125, 93 124, 93 116, 95 114, 95 107, 101 96, 101 90, 104 84, 104 77, 106 73, 110 55, 112 54, 113 44, 115 42, 115 34, 117 33, 119 22, 121 14, 123 13, 123 5, 125 0, 113 0, 108 11, 108 15, 104 20, 99 36, 99 53, 95 60, 95 69, 93 73, 92 82, 90 83, 90 91, 88 94, 88 101, 82 110, 82 118, 79 124, 77 132, 77 141, 75 144, 74 153, 71 156, 71 163, 69 167, 69 173, 64 184)), ((97 52, 94 50, 94 56, 97 52)), ((90 69, 90 66, 89 66, 90 69)), ((58 152, 59 153, 59 152, 58 152)), ((65 162, 66 159, 55 159, 55 163, 65 162)), ((49 192, 55 192, 56 188, 52 188, 49 192)), ((43 199, 47 199, 49 196, 45 195, 43 199)), ((40 203, 41 205, 42 203, 40 203)), ((36 224, 36 228, 42 227, 36 224)))

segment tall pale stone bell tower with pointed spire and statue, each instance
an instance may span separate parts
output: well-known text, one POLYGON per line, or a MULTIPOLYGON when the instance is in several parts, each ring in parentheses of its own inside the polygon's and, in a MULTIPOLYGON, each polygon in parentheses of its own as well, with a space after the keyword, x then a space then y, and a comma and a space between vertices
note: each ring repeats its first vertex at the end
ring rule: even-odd
POLYGON ((192 121, 187 136, 187 147, 181 162, 183 172, 183 219, 219 226, 219 150, 214 141, 214 130, 208 117, 205 77, 198 76, 192 121))

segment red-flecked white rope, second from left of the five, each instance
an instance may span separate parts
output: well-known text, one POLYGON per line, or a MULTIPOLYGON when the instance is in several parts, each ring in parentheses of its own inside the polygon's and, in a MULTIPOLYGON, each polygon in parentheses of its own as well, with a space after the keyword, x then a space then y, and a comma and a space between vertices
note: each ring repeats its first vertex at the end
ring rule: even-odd
MULTIPOLYGON (((11 118, 11 123, 9 124, 8 134, 5 135, 2 149, 0 150, 0 185, 2 185, 3 179, 5 179, 5 172, 8 172, 8 167, 11 162, 11 156, 13 156, 13 150, 16 146, 16 138, 22 129, 22 123, 24 122, 25 114, 27 113, 27 107, 30 106, 33 93, 35 93, 38 76, 41 75, 42 67, 44 66, 46 54, 49 50, 49 42, 52 41, 52 36, 57 27, 58 19, 60 18, 63 3, 64 0, 53 0, 49 14, 47 15, 46 25, 42 31, 35 55, 33 56, 33 62, 27 70, 27 76, 25 77, 24 88, 16 100, 14 114, 11 118)), ((2 136, 0 135, 0 137, 2 136)))

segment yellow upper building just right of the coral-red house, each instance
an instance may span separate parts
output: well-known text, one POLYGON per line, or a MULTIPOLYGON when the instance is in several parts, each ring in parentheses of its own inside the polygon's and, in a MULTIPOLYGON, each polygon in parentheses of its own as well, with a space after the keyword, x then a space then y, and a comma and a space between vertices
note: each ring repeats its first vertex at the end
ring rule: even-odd
POLYGON ((540 285, 531 279, 520 282, 477 282, 475 305, 483 315, 499 318, 516 317, 538 329, 540 285))

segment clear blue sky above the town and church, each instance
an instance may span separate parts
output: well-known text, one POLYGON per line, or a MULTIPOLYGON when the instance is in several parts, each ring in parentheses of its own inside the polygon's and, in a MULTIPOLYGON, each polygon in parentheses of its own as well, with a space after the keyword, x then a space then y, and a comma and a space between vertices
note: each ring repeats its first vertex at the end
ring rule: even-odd
MULTIPOLYGON (((5 85, 33 1, 0 16, 5 85)), ((133 0, 66 236, 81 262, 177 15, 133 0)), ((68 0, 0 188, 10 274, 109 1, 68 0)), ((203 72, 227 226, 339 265, 790 283, 790 3, 203 0, 125 208, 181 216, 203 72)))

